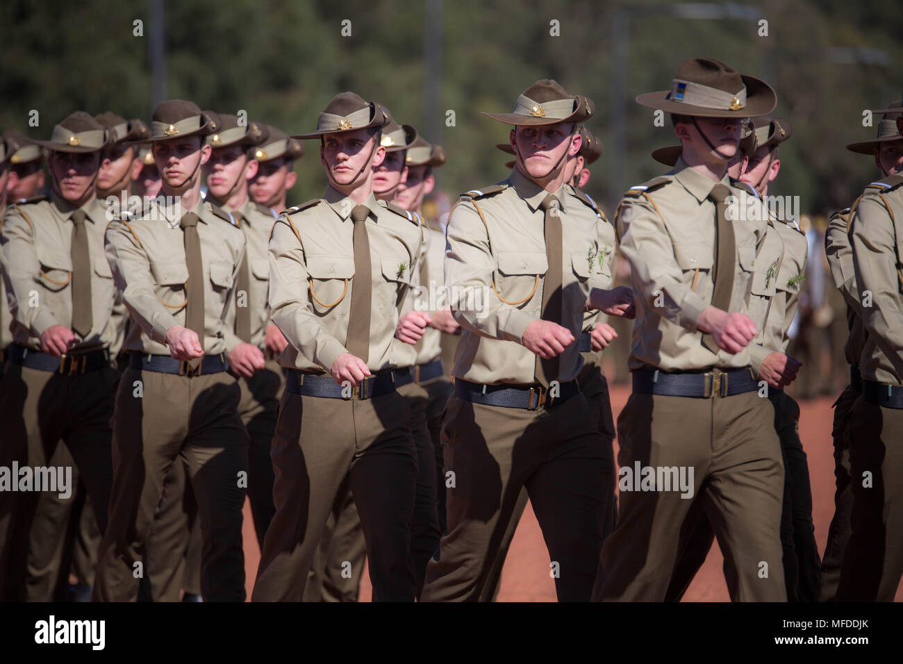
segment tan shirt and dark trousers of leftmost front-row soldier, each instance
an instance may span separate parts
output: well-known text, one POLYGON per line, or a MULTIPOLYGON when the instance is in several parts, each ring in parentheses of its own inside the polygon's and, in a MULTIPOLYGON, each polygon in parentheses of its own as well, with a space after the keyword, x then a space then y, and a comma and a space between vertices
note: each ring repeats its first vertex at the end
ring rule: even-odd
MULTIPOLYGON (((14 304, 14 345, 0 384, 6 423, 2 457, 20 466, 47 466, 62 440, 79 466, 103 529, 107 527, 112 483, 109 418, 118 379, 109 361, 110 345, 116 337, 110 315, 116 291, 103 252, 106 210, 96 200, 79 210, 86 214, 91 327, 84 337, 76 335, 77 343, 65 360, 42 353, 40 337, 51 325, 71 325, 74 223, 70 217, 75 209, 54 196, 51 200, 15 203, 6 210, 2 264, 14 304)), ((10 463, 5 465, 9 467, 10 463)), ((37 492, 2 495, 4 509, 0 514, 19 519, 3 534, 0 545, 0 557, 16 568, 16 572, 4 574, 4 594, 12 585, 25 581, 21 556, 30 540, 38 498, 37 492), (14 560, 19 562, 10 563, 14 560), (8 584, 10 580, 14 584, 8 584)), ((0 523, 9 525, 6 518, 0 523)), ((33 576, 27 582, 26 596, 50 598, 56 579, 42 575, 40 563, 33 565, 30 561, 29 566, 33 576), (39 587, 48 584, 50 587, 39 587)))

